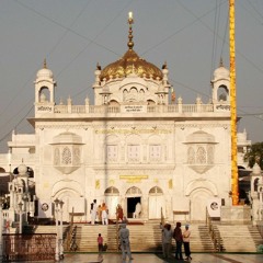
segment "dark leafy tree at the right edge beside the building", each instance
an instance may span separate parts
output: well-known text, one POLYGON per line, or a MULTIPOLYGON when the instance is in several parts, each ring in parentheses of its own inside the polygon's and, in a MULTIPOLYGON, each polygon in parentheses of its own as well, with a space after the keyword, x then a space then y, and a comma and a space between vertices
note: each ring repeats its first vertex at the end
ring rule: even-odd
POLYGON ((244 155, 244 160, 249 161, 250 168, 252 168, 256 161, 261 170, 263 170, 263 142, 253 144, 244 155))

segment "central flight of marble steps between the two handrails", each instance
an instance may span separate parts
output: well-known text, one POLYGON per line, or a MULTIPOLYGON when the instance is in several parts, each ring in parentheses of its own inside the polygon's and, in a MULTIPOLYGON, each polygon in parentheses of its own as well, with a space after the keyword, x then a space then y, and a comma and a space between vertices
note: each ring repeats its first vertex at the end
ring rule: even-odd
MULTIPOLYGON (((128 225, 130 232, 130 248, 134 252, 161 252, 161 229, 159 222, 147 221, 144 225, 128 225)), ((213 252, 214 243, 208 235, 208 228, 204 225, 191 226, 192 238, 191 249, 193 252, 213 252)), ((104 243, 107 243, 107 251, 117 251, 117 226, 108 225, 78 225, 77 226, 77 244, 78 251, 96 252, 98 235, 101 233, 104 243)), ((173 250, 175 243, 173 240, 173 250)))

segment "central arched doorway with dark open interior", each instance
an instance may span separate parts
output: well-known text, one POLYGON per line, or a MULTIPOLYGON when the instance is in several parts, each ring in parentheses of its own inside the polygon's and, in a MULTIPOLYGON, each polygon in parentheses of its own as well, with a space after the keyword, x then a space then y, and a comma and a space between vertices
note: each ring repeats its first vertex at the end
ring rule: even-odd
POLYGON ((141 191, 138 187, 130 187, 126 192, 126 211, 127 218, 134 218, 135 207, 137 203, 141 204, 141 191))

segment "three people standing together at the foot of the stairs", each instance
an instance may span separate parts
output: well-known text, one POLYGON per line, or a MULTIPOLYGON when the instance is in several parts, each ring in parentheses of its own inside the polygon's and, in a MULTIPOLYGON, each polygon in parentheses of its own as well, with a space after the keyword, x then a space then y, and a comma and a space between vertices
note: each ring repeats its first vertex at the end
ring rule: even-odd
POLYGON ((176 222, 174 230, 172 230, 172 226, 170 224, 161 224, 162 252, 164 259, 171 258, 172 239, 174 238, 176 243, 175 260, 183 260, 182 245, 184 245, 185 260, 192 260, 190 250, 191 231, 188 229, 188 225, 185 225, 184 231, 182 231, 181 226, 181 222, 176 222))

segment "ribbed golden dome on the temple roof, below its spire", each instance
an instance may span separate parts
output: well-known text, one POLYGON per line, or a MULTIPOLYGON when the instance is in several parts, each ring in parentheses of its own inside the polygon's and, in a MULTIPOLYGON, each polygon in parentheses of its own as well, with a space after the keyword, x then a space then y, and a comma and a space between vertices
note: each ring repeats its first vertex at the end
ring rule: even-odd
POLYGON ((140 58, 132 48, 129 48, 121 59, 106 66, 102 70, 100 79, 108 80, 110 77, 123 78, 130 73, 136 73, 141 78, 162 79, 162 71, 153 64, 140 58))

